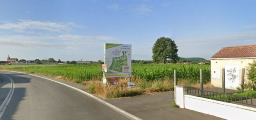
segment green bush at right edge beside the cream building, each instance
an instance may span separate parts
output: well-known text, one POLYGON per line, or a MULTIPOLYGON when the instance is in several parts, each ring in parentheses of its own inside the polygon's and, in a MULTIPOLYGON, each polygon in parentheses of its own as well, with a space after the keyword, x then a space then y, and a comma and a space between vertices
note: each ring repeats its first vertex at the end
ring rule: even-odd
POLYGON ((253 63, 249 63, 249 67, 247 68, 248 73, 247 78, 248 82, 244 84, 245 89, 249 90, 256 90, 256 61, 254 60, 253 63))

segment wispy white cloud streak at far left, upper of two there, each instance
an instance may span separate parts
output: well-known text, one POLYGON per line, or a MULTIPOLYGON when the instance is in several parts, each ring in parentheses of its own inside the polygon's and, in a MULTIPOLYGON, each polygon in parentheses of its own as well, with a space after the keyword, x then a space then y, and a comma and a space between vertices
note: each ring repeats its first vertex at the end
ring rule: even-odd
POLYGON ((33 30, 61 32, 63 30, 69 30, 70 27, 76 26, 74 23, 56 23, 23 19, 18 20, 18 22, 1 21, 1 23, 3 24, 0 24, 0 29, 27 33, 33 33, 33 30))

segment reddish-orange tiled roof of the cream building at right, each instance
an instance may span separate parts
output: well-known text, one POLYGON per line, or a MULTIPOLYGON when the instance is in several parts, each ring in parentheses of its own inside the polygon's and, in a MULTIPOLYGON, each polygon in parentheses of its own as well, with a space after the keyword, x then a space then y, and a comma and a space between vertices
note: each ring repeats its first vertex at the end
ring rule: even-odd
POLYGON ((256 44, 224 47, 211 58, 243 58, 256 57, 256 44))

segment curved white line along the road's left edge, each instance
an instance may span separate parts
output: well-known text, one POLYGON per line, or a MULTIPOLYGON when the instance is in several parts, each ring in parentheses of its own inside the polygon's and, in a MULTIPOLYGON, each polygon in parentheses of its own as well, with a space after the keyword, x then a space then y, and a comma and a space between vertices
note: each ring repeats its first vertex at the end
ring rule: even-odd
POLYGON ((12 98, 13 92, 14 92, 14 88, 15 88, 13 79, 7 75, 5 75, 5 76, 9 78, 9 80, 11 81, 12 84, 11 84, 11 89, 10 89, 9 93, 7 94, 5 100, 3 101, 3 103, 0 106, 0 119, 3 116, 5 109, 7 108, 9 102, 11 101, 11 98, 12 98))

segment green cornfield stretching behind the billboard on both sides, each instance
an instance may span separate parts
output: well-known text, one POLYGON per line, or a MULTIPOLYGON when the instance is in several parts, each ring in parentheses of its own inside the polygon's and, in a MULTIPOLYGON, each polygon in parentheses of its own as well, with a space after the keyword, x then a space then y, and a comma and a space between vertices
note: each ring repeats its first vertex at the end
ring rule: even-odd
MULTIPOLYGON (((91 65, 0 65, 0 69, 26 71, 47 76, 62 76, 64 78, 88 81, 102 78, 101 64, 91 65)), ((184 64, 133 64, 132 75, 147 81, 173 79, 174 69, 177 78, 189 82, 199 82, 200 72, 203 70, 203 80, 210 81, 210 65, 184 64)))

